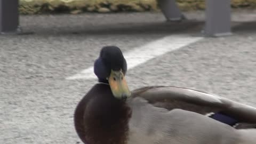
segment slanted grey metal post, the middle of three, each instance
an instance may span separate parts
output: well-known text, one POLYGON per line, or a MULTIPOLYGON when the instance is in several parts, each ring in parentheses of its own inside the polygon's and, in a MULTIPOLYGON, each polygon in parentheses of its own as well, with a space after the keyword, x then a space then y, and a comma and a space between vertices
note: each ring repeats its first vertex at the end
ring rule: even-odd
POLYGON ((167 21, 179 21, 185 18, 175 0, 158 0, 157 2, 167 21))

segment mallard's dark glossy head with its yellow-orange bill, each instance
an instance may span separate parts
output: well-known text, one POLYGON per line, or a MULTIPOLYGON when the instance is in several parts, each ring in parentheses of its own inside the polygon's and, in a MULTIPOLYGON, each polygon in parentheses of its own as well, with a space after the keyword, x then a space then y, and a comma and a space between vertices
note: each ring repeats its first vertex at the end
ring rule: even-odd
POLYGON ((94 73, 99 82, 109 84, 117 99, 126 100, 131 95, 125 81, 126 71, 126 60, 117 46, 105 46, 101 49, 99 58, 94 62, 94 73))

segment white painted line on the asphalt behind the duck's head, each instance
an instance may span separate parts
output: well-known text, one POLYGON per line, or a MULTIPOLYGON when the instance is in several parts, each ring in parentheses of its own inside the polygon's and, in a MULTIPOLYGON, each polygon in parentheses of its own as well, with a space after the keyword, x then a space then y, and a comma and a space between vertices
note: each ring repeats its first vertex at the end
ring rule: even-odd
MULTIPOLYGON (((131 51, 124 52, 124 58, 127 62, 127 68, 134 68, 141 63, 144 63, 150 59, 163 55, 167 52, 171 52, 181 47, 187 46, 191 43, 195 43, 203 37, 191 37, 189 35, 171 35, 166 36, 157 41, 150 42, 146 45, 135 47, 131 51)), ((87 68, 81 73, 74 76, 67 77, 67 79, 93 79, 97 78, 93 72, 93 67, 87 68)))

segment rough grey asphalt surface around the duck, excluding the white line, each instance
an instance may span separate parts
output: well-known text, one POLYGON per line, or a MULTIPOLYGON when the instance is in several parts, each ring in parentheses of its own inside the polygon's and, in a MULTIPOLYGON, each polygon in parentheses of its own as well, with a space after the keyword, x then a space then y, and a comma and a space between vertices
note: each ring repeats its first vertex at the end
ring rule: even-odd
MULTIPOLYGON (((66 77, 93 65, 105 45, 129 51, 164 36, 197 35, 202 12, 22 16, 33 35, 0 36, 0 143, 77 143, 73 114, 95 80, 66 77)), ((185 86, 256 106, 256 12, 233 15, 234 35, 203 40, 127 73, 130 89, 185 86)), ((171 42, 170 42, 171 43, 171 42)))

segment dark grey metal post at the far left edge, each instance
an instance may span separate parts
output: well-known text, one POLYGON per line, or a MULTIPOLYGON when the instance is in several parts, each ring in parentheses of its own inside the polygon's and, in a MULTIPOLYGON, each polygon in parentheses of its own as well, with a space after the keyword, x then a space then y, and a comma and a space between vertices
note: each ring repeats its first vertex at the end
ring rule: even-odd
POLYGON ((0 0, 0 33, 16 33, 19 26, 19 0, 0 0))

